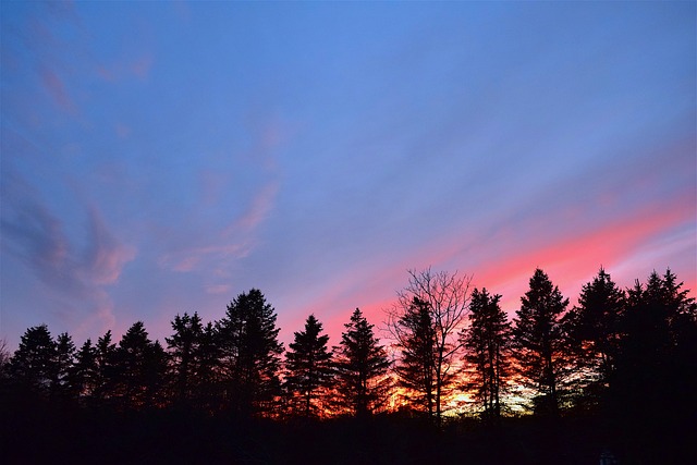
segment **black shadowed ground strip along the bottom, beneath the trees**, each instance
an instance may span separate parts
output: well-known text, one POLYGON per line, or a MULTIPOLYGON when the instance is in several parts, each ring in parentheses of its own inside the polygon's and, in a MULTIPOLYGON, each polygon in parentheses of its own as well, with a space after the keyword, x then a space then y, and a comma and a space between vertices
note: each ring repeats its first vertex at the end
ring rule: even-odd
POLYGON ((499 427, 457 420, 441 430, 399 414, 369 420, 239 421, 172 411, 107 413, 28 399, 2 403, 5 464, 681 464, 694 426, 649 423, 617 430, 597 418, 499 427))

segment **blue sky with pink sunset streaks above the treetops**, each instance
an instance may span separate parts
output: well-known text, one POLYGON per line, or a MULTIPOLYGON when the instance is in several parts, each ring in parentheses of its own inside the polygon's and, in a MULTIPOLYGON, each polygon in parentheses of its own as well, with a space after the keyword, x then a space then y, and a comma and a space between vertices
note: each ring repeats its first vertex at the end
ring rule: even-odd
POLYGON ((428 267, 695 296, 696 5, 3 1, 0 338, 256 287, 337 344, 428 267))

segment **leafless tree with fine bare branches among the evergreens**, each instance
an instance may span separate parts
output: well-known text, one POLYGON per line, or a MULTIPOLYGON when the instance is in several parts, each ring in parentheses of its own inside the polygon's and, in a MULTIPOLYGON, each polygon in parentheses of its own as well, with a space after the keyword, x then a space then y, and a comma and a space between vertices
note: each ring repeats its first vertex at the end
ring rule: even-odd
MULTIPOLYGON (((461 277, 457 271, 432 272, 430 268, 423 271, 409 270, 408 273, 408 285, 398 291, 396 303, 387 310, 387 329, 399 350, 413 346, 414 325, 406 323, 409 321, 408 315, 414 311, 414 302, 420 302, 428 308, 433 343, 431 354, 424 355, 432 357, 433 403, 436 420, 440 424, 441 404, 455 376, 454 363, 457 359, 455 355, 462 347, 457 333, 467 315, 472 277, 467 274, 461 277)), ((403 356, 400 362, 404 362, 403 356)), ((408 372, 408 370, 402 370, 402 374, 408 372)), ((398 375, 400 375, 399 369, 398 375)), ((405 381, 412 381, 413 384, 413 380, 405 381)), ((430 388, 424 387, 424 389, 430 388)), ((425 391, 423 393, 430 395, 425 391)))

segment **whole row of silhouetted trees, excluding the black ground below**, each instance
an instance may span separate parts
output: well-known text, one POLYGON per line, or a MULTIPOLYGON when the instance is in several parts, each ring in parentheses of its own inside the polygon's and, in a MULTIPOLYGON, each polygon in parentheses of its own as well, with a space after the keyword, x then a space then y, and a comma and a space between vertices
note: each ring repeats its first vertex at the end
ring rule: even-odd
POLYGON ((396 412, 441 425, 458 394, 491 425, 524 412, 514 409, 521 403, 539 418, 596 416, 626 428, 697 418, 697 304, 670 269, 622 290, 601 268, 572 308, 537 269, 512 319, 500 294, 470 282, 411 271, 386 310, 386 344, 356 309, 338 345, 309 315, 285 350, 276 309, 256 289, 217 321, 176 315, 163 344, 142 321, 118 343, 107 331, 80 347, 40 325, 13 354, 0 351, 2 392, 241 418, 396 412))

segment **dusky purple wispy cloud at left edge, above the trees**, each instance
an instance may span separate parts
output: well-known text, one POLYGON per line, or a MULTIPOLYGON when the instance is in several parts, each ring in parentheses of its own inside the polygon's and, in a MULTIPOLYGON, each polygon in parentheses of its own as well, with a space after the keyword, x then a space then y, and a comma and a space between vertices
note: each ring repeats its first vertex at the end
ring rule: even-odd
POLYGON ((78 325, 114 320, 107 287, 119 282, 125 265, 136 256, 110 232, 96 208, 86 210, 85 242, 73 240, 63 221, 20 174, 2 172, 2 250, 19 258, 50 293, 69 302, 66 318, 78 325))

